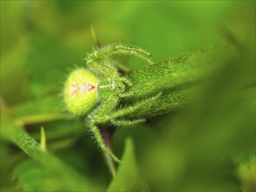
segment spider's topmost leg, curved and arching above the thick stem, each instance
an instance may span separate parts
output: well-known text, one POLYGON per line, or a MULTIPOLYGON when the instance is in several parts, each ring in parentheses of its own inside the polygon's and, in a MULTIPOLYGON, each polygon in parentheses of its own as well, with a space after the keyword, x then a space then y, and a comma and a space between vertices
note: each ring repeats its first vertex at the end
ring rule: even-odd
POLYGON ((149 64, 153 64, 154 62, 149 59, 150 53, 148 51, 143 50, 142 48, 136 48, 132 45, 107 45, 100 47, 100 49, 97 49, 91 53, 87 61, 96 61, 96 60, 102 60, 104 58, 109 58, 113 55, 134 55, 135 57, 142 58, 143 60, 147 61, 149 64))

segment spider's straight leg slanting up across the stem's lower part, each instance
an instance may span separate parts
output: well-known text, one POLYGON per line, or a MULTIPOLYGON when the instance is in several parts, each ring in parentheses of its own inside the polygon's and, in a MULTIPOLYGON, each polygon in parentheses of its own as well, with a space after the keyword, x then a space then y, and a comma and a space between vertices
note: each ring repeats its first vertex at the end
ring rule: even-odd
POLYGON ((97 118, 97 121, 100 123, 107 122, 109 120, 114 120, 116 118, 120 118, 122 116, 135 113, 138 109, 140 109, 142 106, 147 106, 152 100, 155 100, 161 96, 162 93, 156 94, 156 96, 151 97, 149 99, 144 99, 138 103, 136 103, 134 106, 127 106, 124 108, 121 108, 120 110, 117 110, 113 113, 109 113, 107 115, 101 116, 97 118))

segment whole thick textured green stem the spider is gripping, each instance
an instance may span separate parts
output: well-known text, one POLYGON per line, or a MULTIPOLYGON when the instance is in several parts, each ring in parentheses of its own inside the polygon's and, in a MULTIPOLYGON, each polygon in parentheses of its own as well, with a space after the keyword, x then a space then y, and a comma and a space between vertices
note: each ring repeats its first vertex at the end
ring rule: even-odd
POLYGON ((214 45, 129 73, 128 78, 133 82, 129 91, 134 95, 125 99, 124 103, 135 104, 162 93, 161 97, 129 116, 149 118, 183 108, 232 58, 237 58, 235 53, 238 53, 235 46, 214 45))

